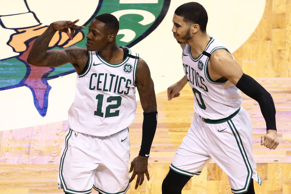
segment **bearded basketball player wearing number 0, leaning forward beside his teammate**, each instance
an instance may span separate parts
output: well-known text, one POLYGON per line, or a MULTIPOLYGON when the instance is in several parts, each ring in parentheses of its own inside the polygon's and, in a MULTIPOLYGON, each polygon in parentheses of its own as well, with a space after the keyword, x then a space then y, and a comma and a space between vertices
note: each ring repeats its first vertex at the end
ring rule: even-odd
POLYGON ((196 2, 179 6, 172 32, 181 45, 185 76, 168 88, 168 100, 180 95, 188 82, 194 94, 194 119, 162 184, 163 194, 181 194, 211 158, 228 175, 233 193, 255 193, 261 184, 252 156, 252 123, 241 107, 241 90, 259 102, 266 120, 261 145, 276 149, 275 106, 271 95, 243 73, 229 50, 206 33, 206 10, 196 2))

